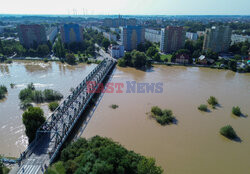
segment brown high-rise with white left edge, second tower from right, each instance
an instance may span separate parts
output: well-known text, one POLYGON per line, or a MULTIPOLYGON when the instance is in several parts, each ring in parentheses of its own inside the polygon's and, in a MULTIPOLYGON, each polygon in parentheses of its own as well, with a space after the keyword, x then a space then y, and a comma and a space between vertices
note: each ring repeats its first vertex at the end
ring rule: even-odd
POLYGON ((184 47, 185 31, 183 27, 167 26, 161 29, 161 52, 169 53, 184 47))

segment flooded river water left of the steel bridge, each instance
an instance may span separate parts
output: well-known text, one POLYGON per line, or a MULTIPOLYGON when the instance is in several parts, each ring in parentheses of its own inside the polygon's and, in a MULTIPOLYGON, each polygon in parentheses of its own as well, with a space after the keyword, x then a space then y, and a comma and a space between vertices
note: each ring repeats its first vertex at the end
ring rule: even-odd
MULTIPOLYGON (((69 66, 60 62, 16 61, 0 64, 0 85, 8 88, 6 99, 0 100, 0 154, 16 156, 25 150, 28 139, 22 124, 22 113, 18 94, 27 84, 33 82, 36 89, 55 89, 64 97, 76 87, 96 65, 69 66), (10 84, 16 84, 14 89, 10 84)), ((48 104, 41 104, 45 116, 49 116, 48 104)))

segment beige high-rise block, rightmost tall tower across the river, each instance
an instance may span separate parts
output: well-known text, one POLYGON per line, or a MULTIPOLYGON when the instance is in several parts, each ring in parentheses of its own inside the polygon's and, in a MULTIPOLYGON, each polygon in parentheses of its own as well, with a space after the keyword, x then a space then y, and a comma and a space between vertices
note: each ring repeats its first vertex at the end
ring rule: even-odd
POLYGON ((206 29, 203 43, 203 50, 214 52, 226 52, 231 43, 232 30, 229 26, 212 27, 206 29))

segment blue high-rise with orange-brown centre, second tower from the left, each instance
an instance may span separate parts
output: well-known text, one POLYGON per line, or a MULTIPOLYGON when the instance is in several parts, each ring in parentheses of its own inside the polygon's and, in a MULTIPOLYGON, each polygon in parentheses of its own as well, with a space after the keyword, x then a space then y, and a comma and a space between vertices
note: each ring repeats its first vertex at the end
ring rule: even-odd
POLYGON ((82 29, 78 24, 64 24, 61 27, 61 37, 64 43, 82 42, 82 29))

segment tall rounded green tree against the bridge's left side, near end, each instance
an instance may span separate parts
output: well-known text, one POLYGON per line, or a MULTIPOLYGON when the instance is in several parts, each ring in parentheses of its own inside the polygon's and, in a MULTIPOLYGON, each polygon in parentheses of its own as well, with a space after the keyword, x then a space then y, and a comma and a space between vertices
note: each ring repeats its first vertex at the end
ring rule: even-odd
POLYGON ((31 143, 36 137, 37 129, 45 122, 43 110, 39 107, 29 107, 22 115, 25 133, 31 143))

